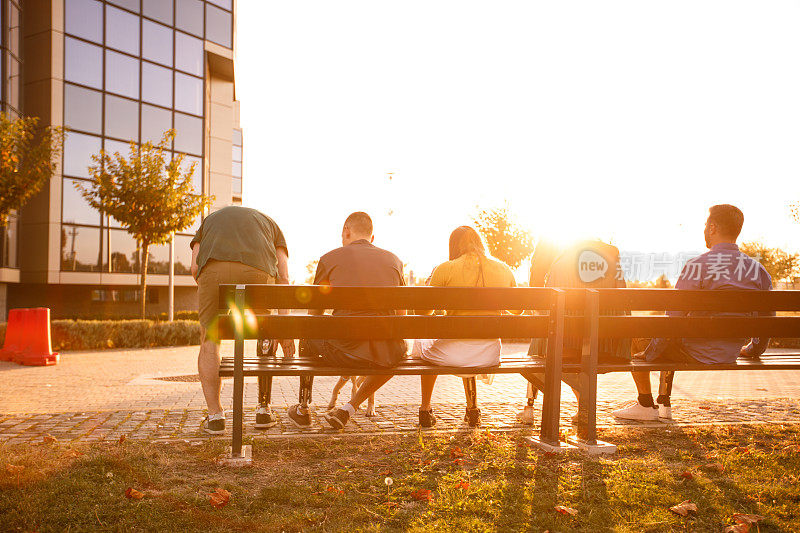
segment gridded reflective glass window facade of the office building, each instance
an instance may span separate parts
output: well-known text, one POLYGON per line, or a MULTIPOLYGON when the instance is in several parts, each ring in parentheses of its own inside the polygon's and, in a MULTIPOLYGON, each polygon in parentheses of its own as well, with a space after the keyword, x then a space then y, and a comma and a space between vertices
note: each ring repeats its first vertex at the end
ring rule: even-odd
MULTIPOLYGON (((176 137, 171 149, 187 154, 187 167, 198 164, 193 177, 195 189, 202 192, 203 40, 232 46, 232 2, 62 1, 64 123, 69 131, 63 154, 61 269, 135 273, 139 271, 135 240, 114 220, 93 210, 75 184, 89 179, 91 156, 101 148, 127 154, 130 142, 159 142, 172 128, 176 137)), ((5 7, 16 2, 0 2, 5 22, 5 7)), ((4 84, 4 106, 5 96, 4 84)), ((175 238, 176 274, 189 273, 188 242, 197 225, 175 238)), ((151 247, 149 272, 167 272, 168 251, 168 246, 151 247)))

